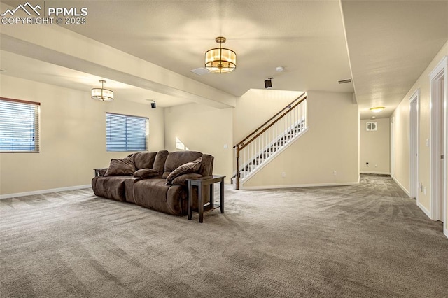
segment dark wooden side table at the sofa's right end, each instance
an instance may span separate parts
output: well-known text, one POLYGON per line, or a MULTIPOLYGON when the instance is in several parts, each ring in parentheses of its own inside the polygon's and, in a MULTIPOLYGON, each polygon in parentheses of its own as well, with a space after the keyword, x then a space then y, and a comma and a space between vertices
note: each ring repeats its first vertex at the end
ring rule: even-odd
POLYGON ((188 183, 188 219, 191 220, 192 205, 193 205, 193 186, 197 186, 197 198, 199 213, 199 222, 204 222, 204 212, 211 211, 216 208, 221 208, 221 213, 224 213, 224 178, 225 176, 204 176, 195 179, 187 179, 188 183), (220 206, 214 206, 214 184, 220 183, 220 206), (204 194, 207 192, 207 186, 210 192, 210 204, 204 208, 204 194))

